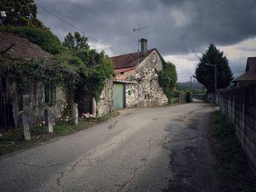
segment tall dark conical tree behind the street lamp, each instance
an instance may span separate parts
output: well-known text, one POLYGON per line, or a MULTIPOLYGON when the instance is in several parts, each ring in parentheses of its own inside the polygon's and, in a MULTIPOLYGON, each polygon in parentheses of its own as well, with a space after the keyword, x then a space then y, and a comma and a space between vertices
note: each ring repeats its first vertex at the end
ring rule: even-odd
POLYGON ((217 65, 217 88, 227 88, 233 80, 233 73, 228 64, 227 57, 219 51, 214 44, 210 44, 205 53, 199 59, 195 68, 195 78, 205 85, 207 92, 214 92, 214 67, 217 65))

